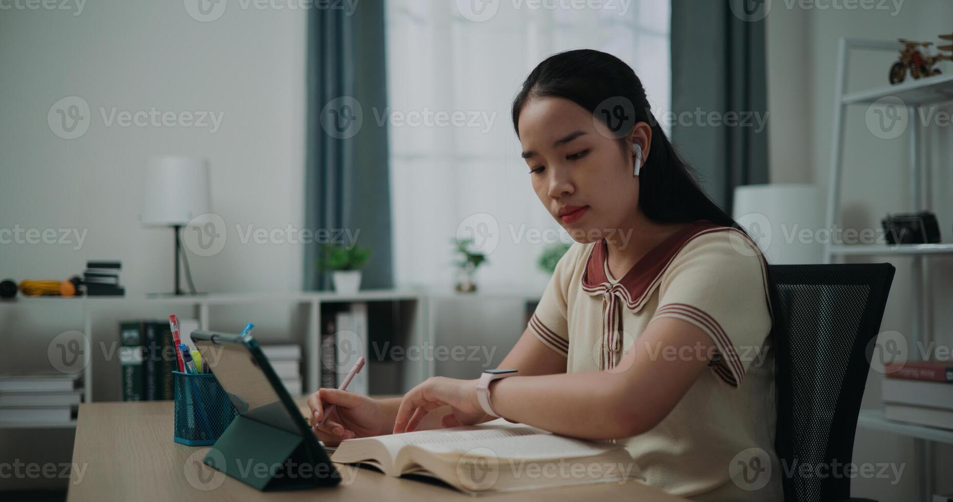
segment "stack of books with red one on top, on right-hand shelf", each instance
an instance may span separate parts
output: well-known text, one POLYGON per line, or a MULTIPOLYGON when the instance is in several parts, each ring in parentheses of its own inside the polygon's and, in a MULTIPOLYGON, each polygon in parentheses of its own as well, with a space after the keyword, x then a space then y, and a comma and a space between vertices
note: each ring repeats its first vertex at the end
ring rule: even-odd
POLYGON ((953 361, 888 366, 882 398, 889 420, 953 429, 953 361))

